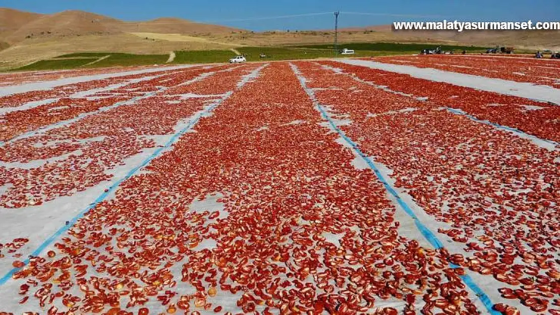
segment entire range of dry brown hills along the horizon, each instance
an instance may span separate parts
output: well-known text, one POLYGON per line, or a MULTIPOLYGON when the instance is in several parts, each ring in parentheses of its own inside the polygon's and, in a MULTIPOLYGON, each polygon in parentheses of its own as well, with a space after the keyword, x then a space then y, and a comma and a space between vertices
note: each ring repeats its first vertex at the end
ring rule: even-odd
MULTIPOLYGON (((0 8, 0 69, 80 52, 169 54, 174 50, 328 44, 333 39, 333 30, 251 32, 173 17, 130 22, 83 11, 44 15, 0 8)), ((508 45, 560 50, 560 31, 393 31, 391 25, 378 25, 341 29, 338 39, 340 43, 508 45)))

